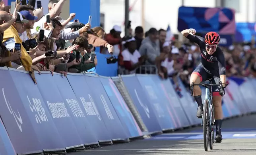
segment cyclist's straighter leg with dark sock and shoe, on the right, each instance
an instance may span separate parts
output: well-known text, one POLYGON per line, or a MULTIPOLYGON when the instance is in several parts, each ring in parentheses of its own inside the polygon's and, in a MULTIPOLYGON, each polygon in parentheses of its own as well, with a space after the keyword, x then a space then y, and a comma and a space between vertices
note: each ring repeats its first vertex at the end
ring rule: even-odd
MULTIPOLYGON (((213 83, 219 83, 219 78, 214 77, 213 83)), ((216 125, 216 136, 215 140, 221 141, 221 125, 223 119, 222 106, 221 106, 221 95, 219 95, 219 88, 217 86, 212 87, 213 89, 213 106, 214 106, 214 117, 215 117, 215 125, 216 125)))

